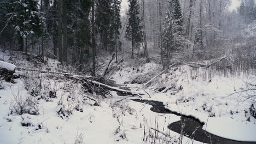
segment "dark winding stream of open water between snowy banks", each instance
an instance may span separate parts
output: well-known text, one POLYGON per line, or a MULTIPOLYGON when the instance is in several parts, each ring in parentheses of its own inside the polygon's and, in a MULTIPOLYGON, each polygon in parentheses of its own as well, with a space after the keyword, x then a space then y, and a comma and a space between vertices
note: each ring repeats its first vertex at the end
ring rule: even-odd
MULTIPOLYGON (((190 137, 190 139, 194 139, 196 141, 204 142, 204 143, 213 143, 213 144, 237 144, 237 143, 254 143, 256 142, 243 142, 243 141, 235 141, 230 139, 225 139, 223 137, 219 137, 217 135, 213 135, 211 133, 208 133, 207 131, 202 129, 202 126, 205 123, 201 123, 199 119, 196 119, 191 116, 184 116, 177 112, 172 112, 170 110, 165 109, 164 104, 160 101, 154 101, 154 100, 141 100, 141 99, 131 99, 133 101, 139 102, 139 103, 146 103, 148 105, 152 105, 150 108, 151 111, 157 112, 157 113, 172 113, 177 116, 181 116, 181 121, 174 122, 170 125, 168 125, 168 129, 175 131, 176 133, 181 133, 181 125, 184 125, 183 128, 183 135, 190 137)), ((230 130, 230 133, 232 133, 232 130, 230 130)), ((245 131, 246 133, 246 131, 245 131)), ((256 136, 256 134, 255 134, 256 136)))

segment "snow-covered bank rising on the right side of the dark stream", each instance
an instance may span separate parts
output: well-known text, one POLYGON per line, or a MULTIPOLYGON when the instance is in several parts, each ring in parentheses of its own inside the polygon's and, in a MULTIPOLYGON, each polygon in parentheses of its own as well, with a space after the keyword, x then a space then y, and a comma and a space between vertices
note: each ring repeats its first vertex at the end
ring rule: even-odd
MULTIPOLYGON (((146 74, 154 69, 157 65, 149 63, 133 70, 123 69, 113 77, 117 80, 121 75, 127 79, 134 78, 136 74, 146 74)), ((166 109, 198 118, 205 123, 203 129, 214 135, 237 141, 256 141, 256 119, 249 111, 255 101, 246 98, 248 93, 232 94, 248 88, 246 82, 254 82, 252 77, 255 75, 209 76, 205 70, 198 72, 190 69, 185 66, 162 74, 147 89, 151 98, 143 95, 143 99, 162 101, 166 109), (153 90, 163 86, 171 87, 166 93, 153 90)), ((135 84, 128 86, 143 87, 135 84)))

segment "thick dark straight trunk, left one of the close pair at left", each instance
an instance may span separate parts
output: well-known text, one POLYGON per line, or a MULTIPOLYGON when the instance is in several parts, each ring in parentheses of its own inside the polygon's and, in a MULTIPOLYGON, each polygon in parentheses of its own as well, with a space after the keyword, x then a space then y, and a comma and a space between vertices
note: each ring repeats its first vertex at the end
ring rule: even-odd
POLYGON ((58 46, 59 46, 59 61, 63 62, 62 54, 62 0, 58 0, 58 46))

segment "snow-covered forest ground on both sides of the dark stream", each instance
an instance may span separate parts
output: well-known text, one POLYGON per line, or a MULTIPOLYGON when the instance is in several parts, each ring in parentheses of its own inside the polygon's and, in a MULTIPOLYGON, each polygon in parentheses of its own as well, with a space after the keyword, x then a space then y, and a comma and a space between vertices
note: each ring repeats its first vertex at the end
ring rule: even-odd
MULTIPOLYGON (((1 51, 0 57, 17 65, 15 75, 22 76, 15 83, 0 83, 0 143, 201 143, 181 138, 167 128, 181 116, 150 111, 152 106, 130 100, 137 96, 121 97, 110 92, 113 97, 103 98, 85 93, 80 83, 61 74, 24 70, 72 73, 56 60, 49 58, 45 64, 33 55, 9 54, 1 51)), ((131 83, 150 80, 160 72, 161 65, 141 61, 112 64, 107 77, 134 91, 146 92, 142 99, 162 101, 166 109, 198 118, 207 123, 203 129, 214 135, 256 141, 256 119, 249 110, 255 105, 255 97, 247 99, 255 93, 232 94, 251 88, 247 83, 256 85, 254 70, 229 75, 183 65, 171 68, 145 87, 131 83)), ((108 63, 106 58, 98 62, 108 63)))

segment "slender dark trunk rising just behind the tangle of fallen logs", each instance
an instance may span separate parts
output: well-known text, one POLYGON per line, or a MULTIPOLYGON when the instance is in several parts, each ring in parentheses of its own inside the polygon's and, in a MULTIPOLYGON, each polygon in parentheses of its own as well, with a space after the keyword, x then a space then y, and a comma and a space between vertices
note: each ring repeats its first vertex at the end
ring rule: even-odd
POLYGON ((92 33, 91 33, 91 38, 92 38, 92 76, 96 75, 96 61, 95 61, 95 57, 96 57, 96 43, 95 43, 95 26, 94 26, 94 5, 95 5, 95 0, 92 0, 92 8, 91 8, 91 23, 92 23, 92 33))

